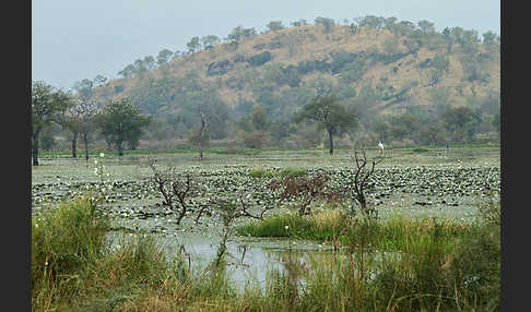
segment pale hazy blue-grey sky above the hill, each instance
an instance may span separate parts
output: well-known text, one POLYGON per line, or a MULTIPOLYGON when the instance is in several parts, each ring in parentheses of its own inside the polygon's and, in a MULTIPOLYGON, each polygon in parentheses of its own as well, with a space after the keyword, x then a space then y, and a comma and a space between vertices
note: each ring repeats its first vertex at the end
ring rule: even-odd
POLYGON ((437 31, 460 26, 500 34, 499 0, 32 0, 32 80, 71 88, 162 49, 186 50, 191 37, 225 38, 234 27, 264 31, 318 16, 343 24, 365 15, 427 20, 437 31))

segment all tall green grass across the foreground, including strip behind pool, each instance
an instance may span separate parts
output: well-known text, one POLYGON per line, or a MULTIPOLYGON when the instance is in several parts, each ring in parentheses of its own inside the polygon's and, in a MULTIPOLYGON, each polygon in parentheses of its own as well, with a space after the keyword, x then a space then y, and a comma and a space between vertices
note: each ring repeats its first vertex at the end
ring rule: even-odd
POLYGON ((248 232, 341 238, 329 260, 283 257, 266 289, 237 292, 223 259, 192 272, 167 261, 153 237, 108 239, 86 200, 33 217, 33 311, 499 311, 499 216, 476 224, 389 218, 367 224, 340 211, 276 215, 248 232), (347 220, 347 221, 346 221, 347 220), (287 227, 286 227, 287 226, 287 227), (345 227, 347 230, 345 230, 345 227), (367 235, 364 240, 363 235, 367 235), (392 243, 392 241, 396 241, 392 243), (382 252, 382 251, 392 252, 382 252), (363 255, 363 257, 362 257, 363 255))

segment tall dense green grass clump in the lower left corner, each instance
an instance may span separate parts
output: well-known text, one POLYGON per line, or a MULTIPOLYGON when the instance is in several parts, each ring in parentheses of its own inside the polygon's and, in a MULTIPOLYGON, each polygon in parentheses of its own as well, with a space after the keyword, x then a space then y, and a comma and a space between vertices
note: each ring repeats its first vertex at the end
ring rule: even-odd
POLYGON ((79 273, 104 253, 107 227, 83 199, 32 218, 34 304, 46 308, 55 298, 74 296, 83 287, 79 273))

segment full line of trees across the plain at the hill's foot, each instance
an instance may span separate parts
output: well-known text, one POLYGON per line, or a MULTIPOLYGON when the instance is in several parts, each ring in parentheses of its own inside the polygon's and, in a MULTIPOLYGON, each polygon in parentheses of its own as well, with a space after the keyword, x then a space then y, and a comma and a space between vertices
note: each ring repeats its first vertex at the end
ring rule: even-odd
MULTIPOLYGON (((93 82, 94 83, 94 82, 93 82)), ((39 139, 43 131, 58 124, 71 133, 72 156, 76 157, 76 141, 84 145, 88 159, 88 141, 96 131, 105 139, 108 148, 115 147, 118 155, 125 148, 134 149, 145 130, 156 119, 145 116, 129 98, 114 99, 107 105, 92 100, 88 80, 76 84, 76 94, 56 89, 44 82, 32 85, 32 164, 38 166, 39 139)), ((282 140, 293 136, 308 136, 319 141, 326 134, 330 155, 334 151, 334 137, 349 133, 356 135, 371 131, 378 141, 411 140, 416 144, 450 144, 473 142, 482 128, 495 129, 499 134, 499 99, 492 99, 486 108, 450 107, 441 104, 439 112, 432 117, 412 106, 402 115, 370 117, 361 113, 359 106, 349 105, 326 83, 317 84, 312 96, 295 110, 290 118, 271 121, 263 105, 250 103, 251 111, 239 119, 231 118, 229 111, 215 98, 215 94, 189 95, 190 105, 175 121, 187 122, 186 139, 199 153, 210 145, 212 139, 226 136, 227 128, 243 139, 246 147, 261 148, 266 142, 276 146, 282 140), (193 99, 196 96, 196 99, 193 99), (220 110, 222 109, 222 110, 220 110), (486 109, 486 110, 485 110, 486 109), (487 119, 485 119, 487 117, 487 119), (365 129, 364 129, 365 128, 365 129), (315 129, 314 131, 311 129, 315 129), (274 139, 271 142, 271 139, 274 139)), ((361 93, 355 97, 358 105, 367 99, 361 93)), ((174 127, 176 124, 174 123, 174 127)))

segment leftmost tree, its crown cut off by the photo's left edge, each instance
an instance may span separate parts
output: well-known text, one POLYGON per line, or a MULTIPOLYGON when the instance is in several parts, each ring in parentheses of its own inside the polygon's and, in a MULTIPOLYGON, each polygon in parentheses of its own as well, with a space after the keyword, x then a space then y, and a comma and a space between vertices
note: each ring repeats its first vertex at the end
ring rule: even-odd
POLYGON ((52 122, 63 123, 63 113, 71 105, 70 96, 43 81, 32 83, 32 164, 38 166, 38 142, 43 129, 52 122))

